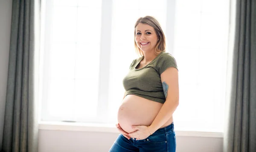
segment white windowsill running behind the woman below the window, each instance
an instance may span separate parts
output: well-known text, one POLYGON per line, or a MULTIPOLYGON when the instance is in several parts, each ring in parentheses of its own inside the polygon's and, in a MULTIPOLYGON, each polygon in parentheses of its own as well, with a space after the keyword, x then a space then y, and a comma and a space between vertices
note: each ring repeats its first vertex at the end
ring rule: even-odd
MULTIPOLYGON (((79 131, 79 132, 109 132, 119 133, 113 124, 100 123, 67 123, 67 122, 39 122, 39 130, 61 130, 61 131, 79 131)), ((175 130, 177 136, 186 137, 212 137, 223 138, 223 132, 197 132, 175 130)))

